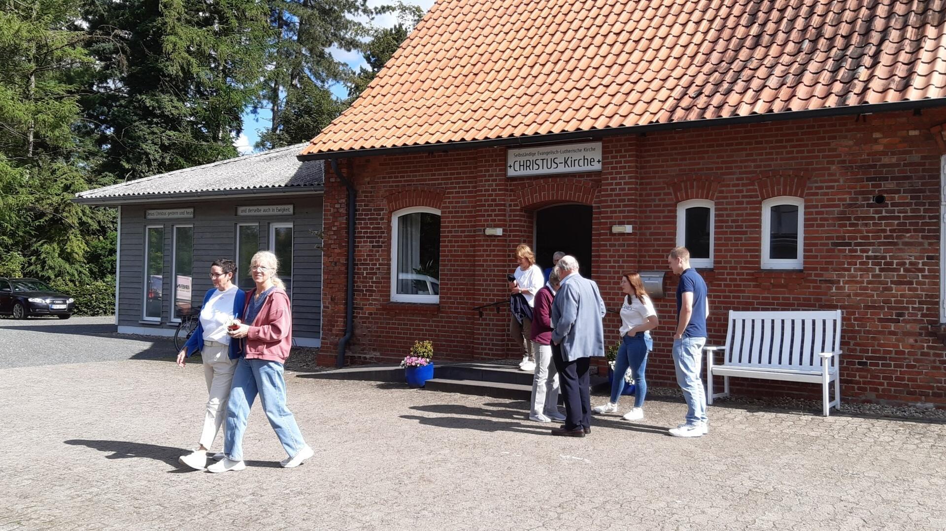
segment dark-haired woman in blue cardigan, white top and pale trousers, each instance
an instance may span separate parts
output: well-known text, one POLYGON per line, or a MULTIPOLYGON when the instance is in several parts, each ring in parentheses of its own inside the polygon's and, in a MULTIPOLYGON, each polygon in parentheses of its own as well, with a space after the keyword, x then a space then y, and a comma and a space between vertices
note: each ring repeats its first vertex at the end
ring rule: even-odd
MULTIPOLYGON (((220 424, 226 417, 226 403, 230 397, 230 383, 234 379, 236 360, 240 356, 240 341, 227 335, 227 327, 243 316, 246 293, 233 283, 236 264, 220 258, 210 267, 214 288, 203 297, 201 317, 197 330, 191 334, 178 352, 178 366, 196 351, 201 352, 203 377, 207 381, 207 412, 203 417, 201 443, 190 454, 178 460, 192 469, 202 471, 207 466, 207 450, 214 444, 220 424)), ((216 457, 216 455, 215 455, 216 457)))

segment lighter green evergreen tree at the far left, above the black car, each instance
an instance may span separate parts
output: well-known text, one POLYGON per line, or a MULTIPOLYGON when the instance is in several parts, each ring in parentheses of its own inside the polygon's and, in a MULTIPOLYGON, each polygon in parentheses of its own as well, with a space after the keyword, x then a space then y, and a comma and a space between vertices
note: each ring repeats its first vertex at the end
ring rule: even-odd
POLYGON ((0 0, 0 275, 79 281, 114 213, 70 201, 90 187, 74 126, 95 37, 79 0, 0 0))

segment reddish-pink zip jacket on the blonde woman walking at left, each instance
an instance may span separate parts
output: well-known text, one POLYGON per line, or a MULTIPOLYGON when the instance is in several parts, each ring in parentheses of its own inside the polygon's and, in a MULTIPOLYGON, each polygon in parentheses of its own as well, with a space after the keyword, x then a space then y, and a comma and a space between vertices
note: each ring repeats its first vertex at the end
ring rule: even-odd
MULTIPOLYGON (((243 315, 250 306, 256 290, 246 294, 243 315)), ((285 363, 292 346, 292 308, 286 290, 275 288, 263 302, 263 307, 250 324, 243 353, 247 359, 261 359, 285 363)))

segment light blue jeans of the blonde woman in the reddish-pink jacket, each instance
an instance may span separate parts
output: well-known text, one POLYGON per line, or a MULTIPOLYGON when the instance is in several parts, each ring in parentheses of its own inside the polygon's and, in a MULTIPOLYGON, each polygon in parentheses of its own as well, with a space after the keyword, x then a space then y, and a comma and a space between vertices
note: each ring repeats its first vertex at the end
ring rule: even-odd
POLYGON ((286 381, 283 364, 274 361, 240 358, 234 370, 230 400, 227 401, 227 422, 224 431, 223 454, 234 461, 243 459, 243 432, 250 408, 256 395, 263 403, 263 411, 272 430, 283 443, 289 457, 298 454, 306 445, 299 432, 295 417, 286 407, 286 381))

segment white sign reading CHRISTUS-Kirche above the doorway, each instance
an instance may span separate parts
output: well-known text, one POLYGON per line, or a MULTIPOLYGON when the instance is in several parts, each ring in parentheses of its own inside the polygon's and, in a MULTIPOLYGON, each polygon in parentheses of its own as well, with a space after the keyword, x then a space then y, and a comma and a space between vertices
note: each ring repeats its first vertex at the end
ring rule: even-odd
POLYGON ((601 143, 517 147, 506 151, 506 177, 601 171, 601 143))

